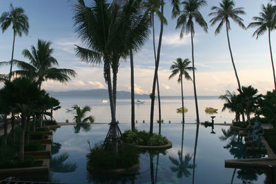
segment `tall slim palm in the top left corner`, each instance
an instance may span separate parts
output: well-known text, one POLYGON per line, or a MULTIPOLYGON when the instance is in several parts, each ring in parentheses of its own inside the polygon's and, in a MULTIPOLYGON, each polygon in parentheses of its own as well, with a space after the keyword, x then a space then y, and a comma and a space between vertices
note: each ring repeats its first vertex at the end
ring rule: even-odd
POLYGON ((5 32, 10 25, 12 25, 13 30, 13 42, 12 42, 12 59, 10 60, 10 75, 9 80, 12 77, 12 62, 13 62, 13 54, 14 54, 14 42, 15 37, 18 35, 22 36, 22 33, 28 35, 29 23, 28 17, 25 14, 25 10, 23 8, 14 8, 12 3, 10 3, 10 11, 3 12, 0 17, 0 23, 2 31, 5 32))

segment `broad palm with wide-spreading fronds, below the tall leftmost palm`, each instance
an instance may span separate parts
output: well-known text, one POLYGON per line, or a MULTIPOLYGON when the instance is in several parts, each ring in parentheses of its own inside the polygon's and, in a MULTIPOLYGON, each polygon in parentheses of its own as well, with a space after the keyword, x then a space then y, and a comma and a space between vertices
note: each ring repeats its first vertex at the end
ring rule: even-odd
POLYGON ((32 45, 31 50, 24 49, 22 54, 30 60, 30 63, 14 60, 14 63, 21 70, 16 70, 13 73, 36 79, 39 89, 41 89, 41 83, 48 79, 66 83, 70 80, 70 76, 75 77, 76 72, 74 70, 53 67, 59 63, 57 59, 52 57, 54 50, 50 48, 50 45, 50 41, 38 39, 37 48, 32 45))

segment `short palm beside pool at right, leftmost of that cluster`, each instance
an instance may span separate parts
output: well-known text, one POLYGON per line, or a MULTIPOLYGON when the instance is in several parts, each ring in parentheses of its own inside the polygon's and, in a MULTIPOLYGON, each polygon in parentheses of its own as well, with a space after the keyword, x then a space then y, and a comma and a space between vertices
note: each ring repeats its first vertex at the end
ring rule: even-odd
POLYGON ((235 120, 239 122, 239 116, 244 112, 241 96, 226 90, 226 94, 219 96, 219 99, 225 101, 222 111, 228 109, 230 112, 235 112, 235 120))

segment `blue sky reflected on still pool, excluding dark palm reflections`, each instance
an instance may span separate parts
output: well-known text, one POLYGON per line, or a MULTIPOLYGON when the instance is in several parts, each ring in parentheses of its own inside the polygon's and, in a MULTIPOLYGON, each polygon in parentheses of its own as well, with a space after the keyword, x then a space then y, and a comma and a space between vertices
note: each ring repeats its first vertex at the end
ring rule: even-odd
MULTIPOLYGON (((129 129, 130 125, 119 124, 122 131, 129 129)), ((137 124, 139 130, 148 130, 149 124, 137 124)), ((181 124, 164 124, 161 127, 161 132, 164 136, 172 141, 172 148, 166 150, 164 154, 159 154, 158 167, 157 157, 158 154, 152 156, 152 165, 154 170, 154 178, 157 173, 157 182, 167 183, 192 183, 193 182, 193 170, 187 169, 190 172, 190 176, 182 176, 177 178, 177 173, 172 172, 170 169, 173 163, 170 161, 169 156, 173 159, 178 159, 177 152, 181 151, 181 124)), ((235 171, 232 168, 224 168, 225 159, 233 159, 234 156, 229 153, 224 146, 228 144, 229 140, 221 141, 221 128, 225 126, 215 126, 216 134, 210 134, 211 127, 205 128, 199 126, 198 142, 197 142, 197 154, 195 157, 195 183, 230 183, 235 171)), ((184 142, 183 142, 183 157, 186 154, 194 156, 195 149, 195 131, 196 125, 185 125, 184 130, 184 142)), ((155 124, 154 131, 158 132, 158 126, 155 124)), ((86 170, 86 154, 88 153, 89 140, 91 145, 103 141, 108 132, 108 125, 91 125, 90 131, 85 132, 80 129, 80 132, 75 134, 73 126, 62 126, 54 134, 54 142, 61 143, 61 149, 59 156, 64 152, 68 152, 70 155, 66 160, 66 163, 76 163, 77 170, 72 173, 52 173, 51 181, 59 181, 61 183, 107 183, 108 177, 113 181, 126 181, 131 183, 131 178, 135 180, 135 183, 151 183, 150 174, 150 154, 143 153, 140 155, 140 169, 139 173, 135 176, 100 176, 97 174, 89 174, 86 170)), ((193 158, 194 159, 194 158, 193 158)), ((189 164, 193 164, 193 159, 189 161, 189 164)), ((239 179, 241 174, 244 174, 244 170, 237 169, 234 174, 233 183, 242 183, 239 179), (239 172, 238 172, 239 171, 239 172), (239 176, 239 178, 237 178, 239 176)), ((264 183, 265 176, 261 174, 251 174, 248 177, 257 176, 256 183, 264 183)))

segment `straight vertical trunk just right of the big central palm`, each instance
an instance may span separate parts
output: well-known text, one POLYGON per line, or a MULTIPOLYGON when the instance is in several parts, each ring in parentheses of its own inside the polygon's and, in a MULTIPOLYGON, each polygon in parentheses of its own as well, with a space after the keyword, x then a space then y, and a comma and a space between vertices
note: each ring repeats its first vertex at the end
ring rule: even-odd
POLYGON ((133 54, 130 49, 130 85, 131 85, 131 130, 135 131, 135 91, 134 91, 134 67, 133 54))

